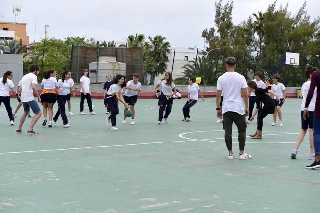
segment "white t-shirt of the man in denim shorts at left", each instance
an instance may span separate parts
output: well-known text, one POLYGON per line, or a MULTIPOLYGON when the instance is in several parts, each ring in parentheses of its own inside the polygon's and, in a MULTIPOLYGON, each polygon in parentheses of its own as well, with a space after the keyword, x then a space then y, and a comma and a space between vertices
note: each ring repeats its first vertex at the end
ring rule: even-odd
POLYGON ((21 79, 21 101, 29 102, 34 100, 32 84, 38 84, 38 78, 35 74, 30 72, 21 79))

